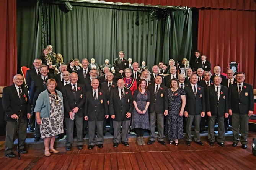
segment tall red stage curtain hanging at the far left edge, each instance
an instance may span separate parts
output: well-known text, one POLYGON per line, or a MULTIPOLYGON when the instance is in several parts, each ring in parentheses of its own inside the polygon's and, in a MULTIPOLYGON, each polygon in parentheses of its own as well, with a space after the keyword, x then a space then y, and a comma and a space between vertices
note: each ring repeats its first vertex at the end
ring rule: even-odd
POLYGON ((0 86, 9 86, 17 72, 16 0, 0 0, 0 11, 0 86))

